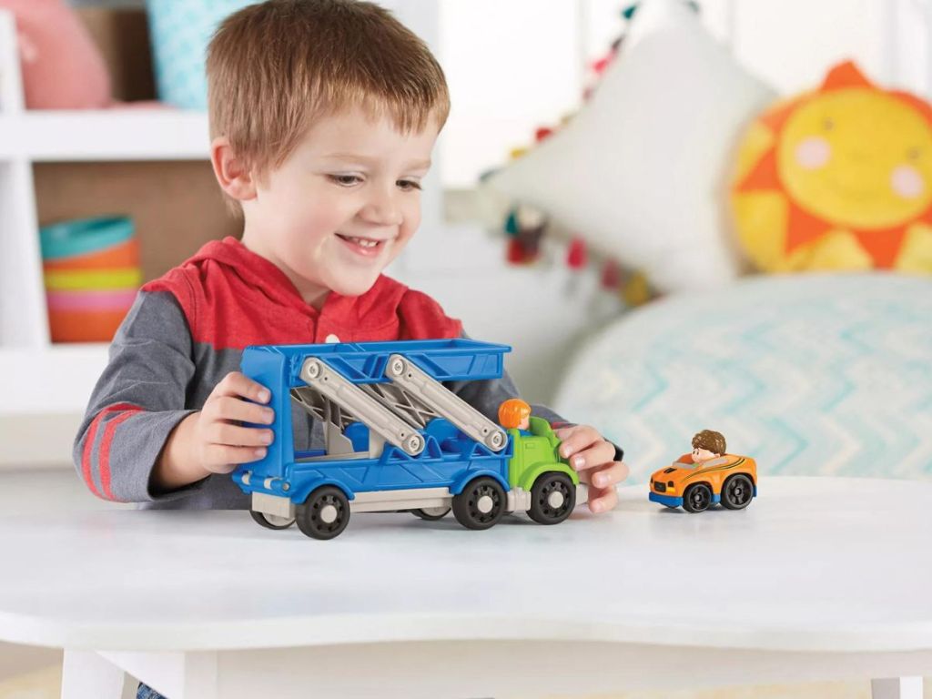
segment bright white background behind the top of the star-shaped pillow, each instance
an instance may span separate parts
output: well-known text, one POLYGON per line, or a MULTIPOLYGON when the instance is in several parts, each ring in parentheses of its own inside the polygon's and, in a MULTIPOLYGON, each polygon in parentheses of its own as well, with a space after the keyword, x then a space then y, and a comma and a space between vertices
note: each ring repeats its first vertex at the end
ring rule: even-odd
MULTIPOLYGON (((633 0, 632 0, 633 1, 633 0)), ((651 0, 643 0, 651 2, 651 0)), ((441 60, 453 113, 444 182, 470 187, 528 144, 534 130, 576 109, 586 62, 624 27, 627 0, 439 0, 441 60)), ((829 66, 855 59, 886 85, 930 94, 921 0, 699 0, 712 34, 781 93, 816 86, 829 66)))

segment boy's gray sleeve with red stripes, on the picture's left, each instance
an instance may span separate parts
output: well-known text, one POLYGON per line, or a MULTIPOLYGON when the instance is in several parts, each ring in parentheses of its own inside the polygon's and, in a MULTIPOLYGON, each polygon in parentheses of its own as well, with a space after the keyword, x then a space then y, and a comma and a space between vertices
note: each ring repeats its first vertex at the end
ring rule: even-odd
POLYGON ((104 500, 181 497, 203 484, 155 495, 149 487, 162 447, 183 418, 195 373, 185 314, 167 292, 140 292, 110 346, 109 362, 75 437, 78 474, 104 500))

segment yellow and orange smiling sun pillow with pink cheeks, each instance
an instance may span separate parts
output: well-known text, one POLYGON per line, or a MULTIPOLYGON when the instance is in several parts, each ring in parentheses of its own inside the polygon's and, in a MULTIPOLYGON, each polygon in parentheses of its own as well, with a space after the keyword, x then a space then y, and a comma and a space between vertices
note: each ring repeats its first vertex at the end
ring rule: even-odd
POLYGON ((932 108, 833 68, 747 131, 732 209, 767 271, 932 272, 932 108))

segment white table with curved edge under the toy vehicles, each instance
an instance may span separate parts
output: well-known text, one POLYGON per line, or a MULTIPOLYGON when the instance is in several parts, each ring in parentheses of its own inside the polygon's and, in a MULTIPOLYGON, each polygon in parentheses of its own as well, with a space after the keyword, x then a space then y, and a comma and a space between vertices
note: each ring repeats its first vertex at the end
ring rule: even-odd
MULTIPOLYGON (((0 519, 0 639, 62 696, 477 697, 932 674, 932 483, 764 478, 747 510, 487 531, 357 514, 334 541, 235 512, 0 519)), ((37 495, 38 497, 38 495, 37 495)), ((891 679, 884 679, 891 678, 891 679)))

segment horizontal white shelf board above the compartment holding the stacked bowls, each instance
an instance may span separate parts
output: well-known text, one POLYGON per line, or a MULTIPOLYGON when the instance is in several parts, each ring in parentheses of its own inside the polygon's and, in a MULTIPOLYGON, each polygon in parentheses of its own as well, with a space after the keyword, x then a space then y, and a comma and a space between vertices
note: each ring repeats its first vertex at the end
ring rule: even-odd
POLYGON ((0 160, 209 158, 207 115, 169 108, 13 112, 0 116, 0 160))

